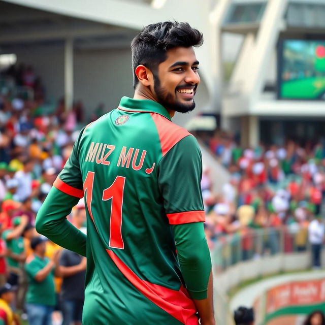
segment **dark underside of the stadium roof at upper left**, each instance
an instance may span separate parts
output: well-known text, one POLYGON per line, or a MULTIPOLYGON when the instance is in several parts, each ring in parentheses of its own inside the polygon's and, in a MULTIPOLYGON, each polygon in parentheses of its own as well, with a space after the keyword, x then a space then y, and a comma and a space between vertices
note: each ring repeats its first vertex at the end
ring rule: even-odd
POLYGON ((80 19, 0 1, 0 53, 16 47, 60 43, 67 37, 75 48, 129 47, 136 34, 131 28, 80 19))

